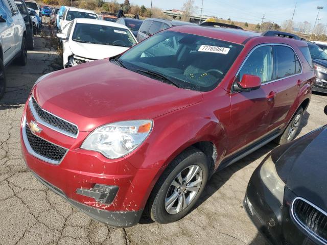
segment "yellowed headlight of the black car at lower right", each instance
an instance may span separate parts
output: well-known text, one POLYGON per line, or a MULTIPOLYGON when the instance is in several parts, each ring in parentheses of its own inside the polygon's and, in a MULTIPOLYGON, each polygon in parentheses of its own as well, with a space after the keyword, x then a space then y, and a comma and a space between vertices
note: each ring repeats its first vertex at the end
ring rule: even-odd
POLYGON ((271 156, 261 166, 260 177, 271 193, 273 193, 279 202, 283 203, 285 183, 278 176, 275 163, 272 161, 271 156))

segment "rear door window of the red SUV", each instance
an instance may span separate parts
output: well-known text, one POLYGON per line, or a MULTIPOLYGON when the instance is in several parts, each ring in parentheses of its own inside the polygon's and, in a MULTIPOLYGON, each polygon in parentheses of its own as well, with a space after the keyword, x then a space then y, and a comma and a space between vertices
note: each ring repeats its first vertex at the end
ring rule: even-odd
POLYGON ((299 63, 292 48, 278 45, 275 45, 274 48, 276 61, 276 79, 297 74, 299 71, 296 70, 296 68, 300 69, 300 67, 297 67, 299 66, 299 63))

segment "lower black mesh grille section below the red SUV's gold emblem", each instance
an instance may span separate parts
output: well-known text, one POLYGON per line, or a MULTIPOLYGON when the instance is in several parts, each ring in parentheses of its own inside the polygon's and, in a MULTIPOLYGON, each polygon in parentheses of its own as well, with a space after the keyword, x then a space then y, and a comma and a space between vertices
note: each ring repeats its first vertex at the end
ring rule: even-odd
POLYGON ((38 155, 57 162, 61 161, 65 156, 67 152, 66 149, 34 135, 28 125, 25 126, 25 130, 31 148, 38 155))

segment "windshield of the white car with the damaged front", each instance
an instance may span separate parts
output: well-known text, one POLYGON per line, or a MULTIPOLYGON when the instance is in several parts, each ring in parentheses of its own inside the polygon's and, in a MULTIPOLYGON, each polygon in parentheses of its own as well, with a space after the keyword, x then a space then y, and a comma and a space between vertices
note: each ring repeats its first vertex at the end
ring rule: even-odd
POLYGON ((136 43, 126 29, 87 23, 76 23, 72 39, 77 42, 122 47, 131 47, 136 43))

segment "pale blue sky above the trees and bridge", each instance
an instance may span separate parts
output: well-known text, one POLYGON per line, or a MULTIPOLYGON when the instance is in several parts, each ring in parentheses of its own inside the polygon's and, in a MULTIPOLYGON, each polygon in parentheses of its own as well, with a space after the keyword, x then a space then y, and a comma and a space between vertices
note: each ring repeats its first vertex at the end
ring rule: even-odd
MULTIPOLYGON (((129 0, 131 4, 150 7, 151 0, 129 0)), ((119 0, 123 3, 123 0, 119 0)), ((185 0, 152 0, 152 6, 160 9, 181 9, 185 0)), ((195 0, 198 7, 196 13, 200 14, 202 0, 195 0)), ((297 3, 294 22, 308 21, 314 24, 318 9, 322 6, 319 17, 320 23, 327 24, 327 0, 203 0, 203 13, 215 15, 218 18, 259 23, 265 15, 264 21, 282 24, 284 20, 291 19, 297 3)), ((318 23, 318 21, 317 21, 318 23)))

